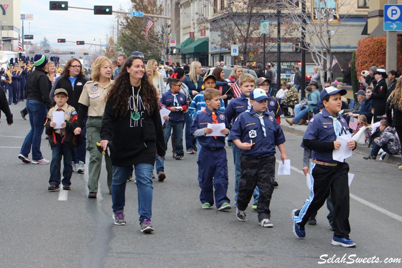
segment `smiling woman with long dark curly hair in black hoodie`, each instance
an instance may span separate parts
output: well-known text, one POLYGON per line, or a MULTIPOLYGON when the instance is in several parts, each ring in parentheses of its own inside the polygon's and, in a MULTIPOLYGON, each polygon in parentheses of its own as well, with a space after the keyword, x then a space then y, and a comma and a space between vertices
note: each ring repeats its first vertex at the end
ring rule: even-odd
POLYGON ((157 90, 151 84, 142 58, 130 56, 108 94, 100 131, 100 146, 113 163, 112 209, 116 225, 124 216, 127 178, 134 165, 141 232, 152 232, 152 170, 155 152, 165 155, 157 90))

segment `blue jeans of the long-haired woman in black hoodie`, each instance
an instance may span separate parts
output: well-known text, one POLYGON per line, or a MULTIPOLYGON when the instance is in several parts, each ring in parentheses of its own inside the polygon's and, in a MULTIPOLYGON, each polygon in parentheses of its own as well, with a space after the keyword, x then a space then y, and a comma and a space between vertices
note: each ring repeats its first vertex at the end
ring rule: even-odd
MULTIPOLYGON (((112 209, 113 211, 124 210, 126 204, 126 184, 132 166, 113 166, 112 180, 112 209)), ((152 217, 152 170, 151 164, 134 165, 136 185, 138 189, 138 214, 140 223, 144 219, 152 217)))

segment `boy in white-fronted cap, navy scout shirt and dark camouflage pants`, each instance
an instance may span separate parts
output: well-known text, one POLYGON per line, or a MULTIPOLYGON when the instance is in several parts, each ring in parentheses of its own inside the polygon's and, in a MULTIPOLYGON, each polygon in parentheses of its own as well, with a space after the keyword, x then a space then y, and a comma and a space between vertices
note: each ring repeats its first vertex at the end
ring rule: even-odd
POLYGON ((267 111, 267 100, 264 90, 253 90, 250 93, 250 110, 237 117, 228 139, 241 152, 236 217, 240 221, 247 221, 246 208, 257 186, 260 191, 258 221, 262 227, 273 227, 269 204, 274 189, 275 146, 280 151, 282 162, 287 156, 283 144, 285 136, 273 114, 267 111))

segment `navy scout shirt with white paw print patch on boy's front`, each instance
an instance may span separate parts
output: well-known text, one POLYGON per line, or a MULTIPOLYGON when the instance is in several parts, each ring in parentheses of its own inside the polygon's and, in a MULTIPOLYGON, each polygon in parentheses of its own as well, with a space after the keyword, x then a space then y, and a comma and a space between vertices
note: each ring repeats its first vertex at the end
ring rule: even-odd
MULTIPOLYGON (((241 154, 252 157, 267 157, 275 154, 275 146, 285 142, 283 131, 276 122, 272 113, 265 111, 262 115, 264 120, 266 137, 260 123, 260 119, 253 108, 241 113, 230 131, 228 140, 240 140, 241 142, 252 141, 255 143, 251 150, 240 150, 241 154)), ((259 116, 259 115, 258 115, 259 116)))

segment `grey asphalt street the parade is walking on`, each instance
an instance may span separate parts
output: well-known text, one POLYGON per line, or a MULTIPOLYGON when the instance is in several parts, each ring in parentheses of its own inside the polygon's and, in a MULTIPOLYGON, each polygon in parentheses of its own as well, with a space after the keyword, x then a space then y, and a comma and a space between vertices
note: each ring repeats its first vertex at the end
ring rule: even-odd
MULTIPOLYGON (((73 174, 69 192, 47 192, 49 165, 23 164, 17 158, 30 128, 19 113, 24 106, 12 105, 12 126, 7 126, 4 115, 0 124, 0 267, 317 267, 323 259, 344 254, 349 261, 374 256, 382 261, 352 264, 359 267, 400 267, 402 263, 384 263, 386 258, 402 258, 402 173, 395 164, 367 161, 356 152, 347 159, 355 174, 350 225, 357 247, 343 248, 331 245, 325 206, 318 213, 318 225, 306 226, 306 239, 292 233, 291 211, 300 208, 309 194, 301 171, 300 136, 285 133, 292 174, 277 176, 279 188, 271 202, 273 228, 258 225, 251 204, 248 222, 237 220, 234 209, 202 210, 196 155, 178 161, 169 149, 167 178, 163 183, 154 181, 155 232, 143 234, 134 182, 126 189, 128 224, 113 224, 105 169, 97 199, 87 198, 87 173, 73 174), (320 259, 324 254, 328 256, 320 259)), ((50 160, 45 135, 41 148, 50 160)), ((227 153, 228 196, 233 204, 231 149, 227 153)))

